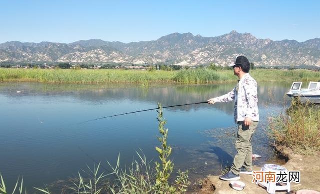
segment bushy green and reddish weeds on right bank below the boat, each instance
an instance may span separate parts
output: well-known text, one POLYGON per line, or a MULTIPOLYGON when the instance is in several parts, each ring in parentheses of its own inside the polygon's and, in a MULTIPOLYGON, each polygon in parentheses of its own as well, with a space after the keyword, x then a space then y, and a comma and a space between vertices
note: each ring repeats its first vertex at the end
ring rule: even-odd
POLYGON ((276 145, 287 146, 299 154, 312 154, 320 150, 318 105, 292 100, 288 109, 272 117, 268 128, 276 145))

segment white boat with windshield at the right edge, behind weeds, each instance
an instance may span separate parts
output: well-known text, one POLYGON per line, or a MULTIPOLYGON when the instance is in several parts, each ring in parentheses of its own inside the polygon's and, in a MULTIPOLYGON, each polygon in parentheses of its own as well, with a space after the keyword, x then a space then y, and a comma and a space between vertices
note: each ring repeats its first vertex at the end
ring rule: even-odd
POLYGON ((293 82, 286 93, 289 97, 299 98, 301 103, 320 103, 320 80, 310 81, 308 88, 301 88, 302 82, 293 82))

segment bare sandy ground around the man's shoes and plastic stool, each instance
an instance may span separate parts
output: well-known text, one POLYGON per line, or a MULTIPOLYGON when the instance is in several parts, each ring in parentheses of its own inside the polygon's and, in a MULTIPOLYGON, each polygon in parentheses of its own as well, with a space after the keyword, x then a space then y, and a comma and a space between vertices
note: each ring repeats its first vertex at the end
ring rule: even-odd
MULTIPOLYGON (((277 148, 284 156, 288 157, 287 163, 282 165, 288 171, 300 172, 300 183, 291 183, 291 192, 294 194, 298 190, 314 190, 320 192, 320 152, 312 156, 293 154, 287 148, 277 148)), ((254 166, 254 171, 260 171, 261 167, 254 166)), ((192 194, 266 194, 264 188, 252 183, 251 175, 240 175, 240 181, 245 183, 242 191, 233 190, 228 181, 219 180, 219 176, 208 176, 203 180, 202 188, 192 194)), ((276 191, 276 194, 286 194, 286 191, 276 191)))

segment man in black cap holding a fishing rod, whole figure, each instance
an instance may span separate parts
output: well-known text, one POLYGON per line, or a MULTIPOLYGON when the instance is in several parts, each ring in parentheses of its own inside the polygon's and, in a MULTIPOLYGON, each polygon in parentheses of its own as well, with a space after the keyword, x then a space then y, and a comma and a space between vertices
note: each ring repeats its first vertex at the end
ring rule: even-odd
POLYGON ((232 64, 233 73, 239 80, 236 86, 227 94, 210 98, 209 104, 216 102, 228 102, 234 100, 234 122, 237 123, 237 139, 230 171, 220 176, 221 180, 239 180, 239 173, 252 173, 252 146, 251 138, 259 120, 257 107, 257 84, 249 75, 250 64, 244 56, 238 56, 232 64), (240 170, 243 167, 243 170, 240 170))

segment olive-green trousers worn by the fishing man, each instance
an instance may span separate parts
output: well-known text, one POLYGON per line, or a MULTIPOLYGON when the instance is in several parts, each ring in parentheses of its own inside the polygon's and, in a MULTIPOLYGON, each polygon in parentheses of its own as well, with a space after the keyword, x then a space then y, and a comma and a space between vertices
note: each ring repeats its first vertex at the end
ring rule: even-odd
POLYGON ((235 141, 237 154, 234 156, 230 171, 239 174, 243 166, 246 171, 252 171, 252 146, 251 139, 258 122, 252 121, 249 126, 244 126, 243 121, 238 122, 238 133, 235 141))

